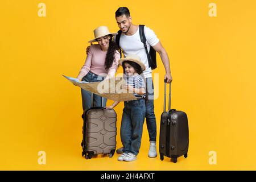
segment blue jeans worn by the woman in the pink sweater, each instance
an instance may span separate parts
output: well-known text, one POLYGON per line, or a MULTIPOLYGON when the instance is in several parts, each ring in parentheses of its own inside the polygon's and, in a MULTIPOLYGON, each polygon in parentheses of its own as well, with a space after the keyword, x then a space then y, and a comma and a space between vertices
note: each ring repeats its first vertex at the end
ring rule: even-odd
MULTIPOLYGON (((102 81, 104 80, 104 77, 94 74, 93 72, 88 72, 87 75, 85 75, 82 78, 82 81, 87 82, 96 82, 96 81, 102 81)), ((92 92, 89 92, 87 90, 81 89, 82 93, 82 109, 88 110, 92 106, 92 92)), ((100 96, 97 96, 96 94, 93 94, 93 100, 94 100, 94 107, 100 107, 101 106, 101 98, 100 96)), ((103 106, 106 106, 107 99, 104 98, 103 106)))

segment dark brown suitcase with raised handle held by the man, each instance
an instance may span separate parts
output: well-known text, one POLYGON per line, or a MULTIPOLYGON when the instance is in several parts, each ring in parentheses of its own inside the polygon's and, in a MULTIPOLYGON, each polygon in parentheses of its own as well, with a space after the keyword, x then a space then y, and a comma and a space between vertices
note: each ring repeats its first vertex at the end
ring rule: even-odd
POLYGON ((177 162, 177 158, 188 156, 188 118, 183 111, 171 108, 171 83, 169 90, 168 111, 166 111, 166 80, 164 80, 164 112, 161 115, 159 153, 160 159, 164 156, 172 158, 177 162))

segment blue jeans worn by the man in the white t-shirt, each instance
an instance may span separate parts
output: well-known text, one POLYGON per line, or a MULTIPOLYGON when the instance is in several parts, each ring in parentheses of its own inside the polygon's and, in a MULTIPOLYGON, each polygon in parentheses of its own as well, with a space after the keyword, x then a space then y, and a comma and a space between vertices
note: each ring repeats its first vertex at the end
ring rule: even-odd
POLYGON ((152 77, 146 78, 146 122, 151 142, 156 141, 156 119, 154 113, 154 85, 152 77))

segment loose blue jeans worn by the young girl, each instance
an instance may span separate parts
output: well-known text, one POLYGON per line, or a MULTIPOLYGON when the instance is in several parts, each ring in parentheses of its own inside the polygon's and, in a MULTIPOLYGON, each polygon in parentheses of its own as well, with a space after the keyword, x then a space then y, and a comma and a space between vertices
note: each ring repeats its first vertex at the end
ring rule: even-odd
POLYGON ((142 129, 145 118, 145 100, 126 101, 121 122, 121 141, 124 153, 137 155, 141 147, 142 129))

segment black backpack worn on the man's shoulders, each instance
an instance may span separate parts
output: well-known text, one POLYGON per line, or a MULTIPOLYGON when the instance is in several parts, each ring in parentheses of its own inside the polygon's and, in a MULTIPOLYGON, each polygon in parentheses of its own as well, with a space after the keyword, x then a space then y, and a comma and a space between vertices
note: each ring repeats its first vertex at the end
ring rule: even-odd
MULTIPOLYGON (((119 30, 118 34, 115 36, 115 43, 117 43, 117 45, 119 47, 119 53, 122 57, 122 51, 121 51, 121 48, 119 46, 121 34, 122 34, 122 31, 119 30)), ((139 25, 139 36, 141 37, 141 42, 144 44, 144 48, 145 48, 146 53, 147 53, 148 66, 151 69, 155 69, 157 67, 156 66, 156 52, 155 52, 155 49, 152 48, 152 46, 150 46, 150 52, 148 53, 147 44, 146 44, 147 39, 146 39, 146 36, 144 34, 144 25, 143 24, 139 25)))

